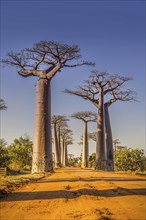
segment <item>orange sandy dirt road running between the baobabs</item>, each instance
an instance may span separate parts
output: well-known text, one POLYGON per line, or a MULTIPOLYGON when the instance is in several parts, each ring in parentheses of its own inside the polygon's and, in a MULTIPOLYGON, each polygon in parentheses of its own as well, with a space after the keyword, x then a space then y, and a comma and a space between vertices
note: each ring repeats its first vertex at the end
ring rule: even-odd
POLYGON ((58 169, 1 200, 1 220, 144 220, 144 177, 58 169))

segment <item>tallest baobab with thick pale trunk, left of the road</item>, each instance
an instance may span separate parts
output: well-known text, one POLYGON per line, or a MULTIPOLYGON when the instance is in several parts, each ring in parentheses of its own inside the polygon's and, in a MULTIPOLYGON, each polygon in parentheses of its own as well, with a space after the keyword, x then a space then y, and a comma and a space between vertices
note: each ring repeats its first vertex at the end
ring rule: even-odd
POLYGON ((40 41, 19 53, 10 52, 2 62, 18 69, 22 77, 38 77, 35 98, 35 122, 32 173, 53 169, 51 140, 51 80, 65 67, 92 65, 80 61, 80 48, 54 41, 40 41), (75 62, 73 62, 75 61, 75 62))

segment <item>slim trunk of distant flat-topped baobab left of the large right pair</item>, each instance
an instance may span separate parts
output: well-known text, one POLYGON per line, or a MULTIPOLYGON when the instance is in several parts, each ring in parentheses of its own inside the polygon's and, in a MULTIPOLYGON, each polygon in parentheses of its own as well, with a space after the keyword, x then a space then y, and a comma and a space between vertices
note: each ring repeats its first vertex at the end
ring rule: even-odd
POLYGON ((88 139, 87 139, 87 122, 84 122, 83 134, 83 153, 82 153, 82 168, 88 167, 88 139))

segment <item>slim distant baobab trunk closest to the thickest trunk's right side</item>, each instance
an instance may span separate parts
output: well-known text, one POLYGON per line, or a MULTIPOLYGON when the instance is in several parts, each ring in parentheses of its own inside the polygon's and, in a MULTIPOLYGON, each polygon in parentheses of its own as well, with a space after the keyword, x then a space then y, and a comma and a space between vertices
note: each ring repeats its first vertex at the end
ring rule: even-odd
POLYGON ((57 139, 57 128, 56 124, 54 124, 54 162, 55 167, 60 167, 60 152, 58 148, 58 139, 57 139))

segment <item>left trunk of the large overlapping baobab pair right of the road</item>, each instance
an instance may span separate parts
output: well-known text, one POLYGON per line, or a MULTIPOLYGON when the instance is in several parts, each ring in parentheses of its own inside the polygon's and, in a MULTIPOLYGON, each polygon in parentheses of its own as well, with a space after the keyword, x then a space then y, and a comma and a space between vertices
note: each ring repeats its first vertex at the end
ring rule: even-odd
POLYGON ((95 169, 106 170, 105 136, 104 136, 104 95, 101 88, 99 93, 99 108, 97 117, 97 141, 95 169))

